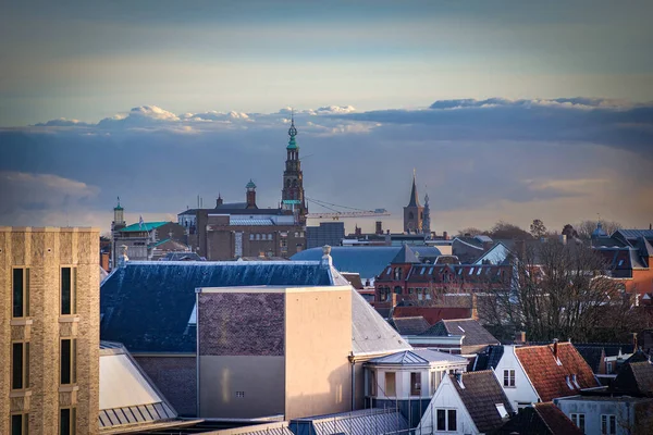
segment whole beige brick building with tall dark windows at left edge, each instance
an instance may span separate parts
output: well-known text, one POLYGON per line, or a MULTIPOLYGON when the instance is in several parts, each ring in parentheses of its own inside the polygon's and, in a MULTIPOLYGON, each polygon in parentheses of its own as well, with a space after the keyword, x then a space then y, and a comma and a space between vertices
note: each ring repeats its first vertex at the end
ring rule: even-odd
POLYGON ((2 434, 98 433, 99 236, 0 227, 2 434))

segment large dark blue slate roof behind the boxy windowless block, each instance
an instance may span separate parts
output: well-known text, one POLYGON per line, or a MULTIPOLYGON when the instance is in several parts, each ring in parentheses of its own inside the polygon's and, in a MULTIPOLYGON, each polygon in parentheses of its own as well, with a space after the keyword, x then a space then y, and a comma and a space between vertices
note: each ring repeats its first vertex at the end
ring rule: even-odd
POLYGON ((319 263, 130 261, 100 287, 100 337, 131 352, 195 352, 188 319, 196 288, 325 286, 330 279, 319 263))

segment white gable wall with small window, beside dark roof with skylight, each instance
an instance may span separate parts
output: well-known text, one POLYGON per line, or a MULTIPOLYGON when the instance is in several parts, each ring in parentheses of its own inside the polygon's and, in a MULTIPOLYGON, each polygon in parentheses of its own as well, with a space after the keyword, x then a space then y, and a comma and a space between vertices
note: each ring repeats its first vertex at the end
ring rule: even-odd
POLYGON ((471 417, 467 412, 467 408, 463 405, 458 391, 452 385, 452 380, 445 376, 442 384, 438 387, 435 395, 429 403, 419 425, 415 430, 416 435, 428 434, 479 434, 471 417), (438 409, 455 409, 456 410, 456 432, 443 432, 436 430, 436 410, 438 409))

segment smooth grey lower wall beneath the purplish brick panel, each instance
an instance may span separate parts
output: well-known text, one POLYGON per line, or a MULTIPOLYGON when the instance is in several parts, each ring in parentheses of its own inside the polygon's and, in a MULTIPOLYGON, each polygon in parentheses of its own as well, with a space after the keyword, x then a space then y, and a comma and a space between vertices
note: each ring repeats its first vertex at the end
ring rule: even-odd
POLYGON ((284 357, 199 357, 199 415, 249 419, 281 415, 284 357), (245 397, 236 397, 236 391, 245 397))

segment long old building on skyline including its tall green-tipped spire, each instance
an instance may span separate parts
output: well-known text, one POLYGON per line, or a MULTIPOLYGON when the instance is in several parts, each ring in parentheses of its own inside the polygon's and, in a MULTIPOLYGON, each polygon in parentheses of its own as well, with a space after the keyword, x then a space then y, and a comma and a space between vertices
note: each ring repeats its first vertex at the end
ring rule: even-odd
MULTIPOLYGON (((286 147, 280 208, 259 209, 256 184, 245 186, 246 201, 226 203, 219 195, 212 209, 189 209, 177 214, 187 232, 187 244, 207 260, 242 257, 289 258, 306 249, 306 199, 297 128, 292 121, 286 147)), ((132 256, 130 256, 132 258, 132 256)))

